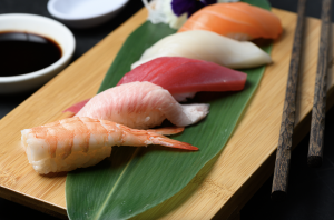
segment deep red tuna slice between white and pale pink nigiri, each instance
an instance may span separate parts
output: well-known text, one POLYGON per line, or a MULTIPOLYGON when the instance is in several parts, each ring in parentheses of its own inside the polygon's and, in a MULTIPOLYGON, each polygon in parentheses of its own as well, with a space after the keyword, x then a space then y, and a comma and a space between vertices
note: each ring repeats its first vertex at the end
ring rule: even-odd
POLYGON ((247 74, 204 60, 161 57, 126 73, 117 86, 149 81, 174 93, 243 90, 247 74))

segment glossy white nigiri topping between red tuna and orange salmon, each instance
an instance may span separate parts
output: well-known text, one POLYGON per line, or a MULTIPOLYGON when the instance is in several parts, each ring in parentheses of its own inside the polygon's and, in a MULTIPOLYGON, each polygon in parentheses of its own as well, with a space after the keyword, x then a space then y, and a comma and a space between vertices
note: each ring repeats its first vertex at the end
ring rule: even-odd
POLYGON ((159 57, 185 57, 245 69, 272 62, 271 56, 248 41, 237 41, 205 30, 193 30, 167 36, 148 48, 131 68, 159 57))

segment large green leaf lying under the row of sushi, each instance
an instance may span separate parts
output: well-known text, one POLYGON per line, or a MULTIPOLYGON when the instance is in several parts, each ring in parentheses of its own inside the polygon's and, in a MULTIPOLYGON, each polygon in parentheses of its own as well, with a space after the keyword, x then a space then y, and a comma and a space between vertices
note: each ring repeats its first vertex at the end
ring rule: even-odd
MULTIPOLYGON (((266 0, 246 2, 269 9, 266 0)), ((174 32, 166 24, 145 22, 140 26, 124 43, 99 92, 116 86, 145 49, 174 32)), ((263 49, 269 52, 271 46, 263 49)), ((189 142, 198 147, 199 151, 189 152, 159 146, 114 147, 111 156, 99 164, 69 172, 66 180, 69 218, 129 219, 179 192, 222 151, 264 70, 265 67, 243 70, 248 74, 243 91, 200 92, 196 96, 196 102, 210 104, 210 113, 204 121, 186 128, 181 134, 173 138, 189 142)))

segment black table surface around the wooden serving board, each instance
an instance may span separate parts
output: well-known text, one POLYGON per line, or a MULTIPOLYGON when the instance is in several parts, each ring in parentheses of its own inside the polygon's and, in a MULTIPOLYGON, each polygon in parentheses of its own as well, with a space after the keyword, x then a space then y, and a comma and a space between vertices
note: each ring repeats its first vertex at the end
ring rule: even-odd
MULTIPOLYGON (((269 0, 273 7, 296 12, 297 0, 269 0)), ((77 48, 72 61, 82 56, 143 7, 140 0, 129 0, 116 18, 87 30, 71 29, 77 48)), ((306 16, 320 18, 321 0, 308 0, 306 16)), ((46 0, 0 0, 1 13, 33 13, 51 18, 46 0)), ((332 14, 334 10, 332 10, 332 14)), ((332 21, 334 16, 332 16, 332 21)), ((0 96, 0 119, 14 109, 33 91, 16 96, 0 96)), ((288 198, 283 203, 271 201, 273 176, 258 189, 240 211, 240 219, 334 219, 334 108, 326 113, 324 162, 321 168, 306 164, 308 139, 306 136, 292 154, 288 198)), ((57 219, 0 198, 0 219, 57 219)))

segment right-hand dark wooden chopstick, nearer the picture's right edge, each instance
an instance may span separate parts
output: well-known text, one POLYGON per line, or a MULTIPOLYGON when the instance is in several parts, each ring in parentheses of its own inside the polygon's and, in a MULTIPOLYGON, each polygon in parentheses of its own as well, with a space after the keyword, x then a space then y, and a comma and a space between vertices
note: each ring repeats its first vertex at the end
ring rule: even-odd
POLYGON ((323 0, 322 29, 317 57, 317 69, 314 88, 314 101, 312 109, 312 123, 310 132, 310 146, 307 164, 316 168, 323 163, 323 144, 326 114, 327 93, 327 61, 331 31, 331 0, 323 0))

